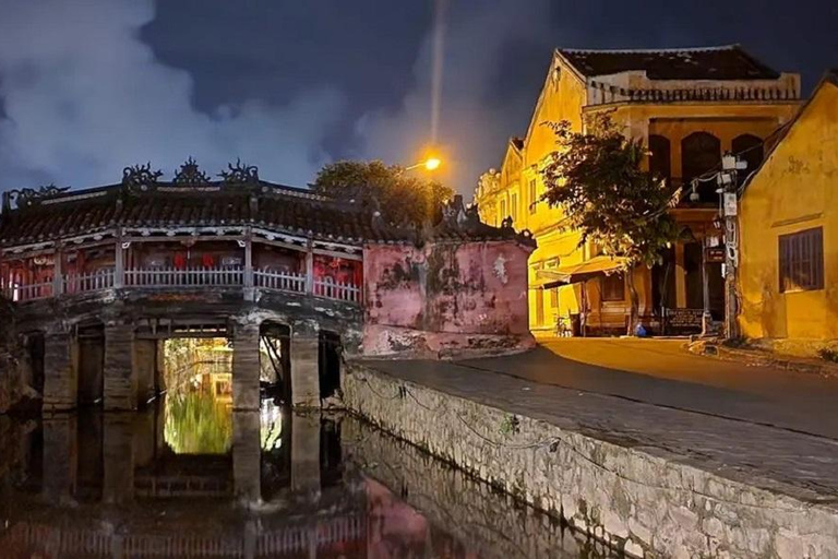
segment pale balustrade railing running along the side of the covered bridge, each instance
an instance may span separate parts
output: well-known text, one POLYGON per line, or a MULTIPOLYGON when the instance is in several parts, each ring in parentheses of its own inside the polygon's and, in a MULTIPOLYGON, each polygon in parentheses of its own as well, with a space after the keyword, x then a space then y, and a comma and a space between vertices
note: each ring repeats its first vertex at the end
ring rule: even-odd
POLYGON ((29 301, 52 297, 56 284, 60 294, 83 294, 110 289, 122 285, 131 288, 190 288, 190 287, 240 287, 310 294, 315 297, 342 301, 361 302, 361 288, 354 283, 334 282, 332 278, 316 278, 309 282, 304 273, 253 270, 252 282, 248 270, 242 267, 192 267, 192 269, 129 269, 122 277, 111 269, 86 274, 68 274, 59 282, 37 284, 11 283, 2 285, 3 295, 13 301, 29 301))

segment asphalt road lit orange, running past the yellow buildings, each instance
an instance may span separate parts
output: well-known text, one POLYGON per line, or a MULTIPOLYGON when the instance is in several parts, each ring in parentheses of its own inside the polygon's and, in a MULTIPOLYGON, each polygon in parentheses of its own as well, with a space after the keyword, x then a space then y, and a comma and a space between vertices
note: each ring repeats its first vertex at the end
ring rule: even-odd
POLYGON ((838 440, 838 379, 691 355, 682 345, 669 340, 567 338, 523 355, 457 364, 838 440))

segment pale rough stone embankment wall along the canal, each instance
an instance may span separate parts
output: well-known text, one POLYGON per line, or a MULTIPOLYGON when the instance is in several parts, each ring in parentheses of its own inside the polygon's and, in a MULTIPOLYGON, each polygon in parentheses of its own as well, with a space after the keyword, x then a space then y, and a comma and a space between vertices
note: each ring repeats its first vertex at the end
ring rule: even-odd
POLYGON ((838 510, 354 364, 347 407, 635 557, 838 557, 838 510))

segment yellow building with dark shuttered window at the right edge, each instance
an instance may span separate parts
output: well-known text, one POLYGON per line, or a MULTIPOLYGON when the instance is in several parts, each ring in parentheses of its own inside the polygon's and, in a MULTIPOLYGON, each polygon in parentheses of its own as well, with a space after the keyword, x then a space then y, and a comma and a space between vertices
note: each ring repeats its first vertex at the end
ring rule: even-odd
POLYGON ((809 353, 838 340, 838 72, 829 72, 746 183, 742 334, 809 353))

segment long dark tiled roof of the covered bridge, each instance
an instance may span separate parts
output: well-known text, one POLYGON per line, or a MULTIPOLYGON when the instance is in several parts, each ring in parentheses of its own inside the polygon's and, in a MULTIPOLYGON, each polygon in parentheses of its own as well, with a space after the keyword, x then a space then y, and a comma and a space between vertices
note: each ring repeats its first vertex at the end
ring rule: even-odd
POLYGON ((372 210, 260 181, 247 187, 160 182, 149 191, 122 185, 61 192, 0 216, 0 245, 14 246, 123 227, 261 226, 315 239, 402 240, 375 226, 372 210))

